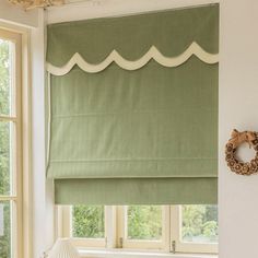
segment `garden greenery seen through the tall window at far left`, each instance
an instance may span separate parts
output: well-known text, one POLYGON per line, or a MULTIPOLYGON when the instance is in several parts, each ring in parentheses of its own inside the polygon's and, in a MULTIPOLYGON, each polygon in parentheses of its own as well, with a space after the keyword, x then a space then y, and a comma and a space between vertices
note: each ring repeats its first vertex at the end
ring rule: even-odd
MULTIPOLYGON (((0 38, 0 116, 11 116, 13 44, 0 38)), ((12 121, 0 119, 0 196, 12 192, 12 121)), ((11 258, 12 201, 0 200, 0 257, 11 258)))

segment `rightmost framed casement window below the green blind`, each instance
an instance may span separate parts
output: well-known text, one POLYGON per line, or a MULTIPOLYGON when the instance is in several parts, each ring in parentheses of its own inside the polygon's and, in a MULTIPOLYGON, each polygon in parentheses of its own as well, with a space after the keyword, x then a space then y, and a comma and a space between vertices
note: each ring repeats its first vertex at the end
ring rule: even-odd
POLYGON ((172 248, 186 253, 218 253, 216 206, 175 206, 171 216, 172 248))

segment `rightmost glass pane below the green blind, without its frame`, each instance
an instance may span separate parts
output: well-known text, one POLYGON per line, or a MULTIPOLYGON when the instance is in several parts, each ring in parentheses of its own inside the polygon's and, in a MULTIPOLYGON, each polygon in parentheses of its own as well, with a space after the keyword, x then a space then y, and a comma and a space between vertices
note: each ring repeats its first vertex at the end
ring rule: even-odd
POLYGON ((181 241, 218 243, 218 206, 183 206, 181 241))

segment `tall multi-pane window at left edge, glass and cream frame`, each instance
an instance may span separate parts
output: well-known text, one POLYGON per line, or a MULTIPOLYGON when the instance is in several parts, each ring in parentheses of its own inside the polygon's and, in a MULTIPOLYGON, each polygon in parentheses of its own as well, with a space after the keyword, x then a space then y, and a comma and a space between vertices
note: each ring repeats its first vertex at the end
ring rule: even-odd
POLYGON ((0 30, 0 257, 21 256, 21 36, 0 30))

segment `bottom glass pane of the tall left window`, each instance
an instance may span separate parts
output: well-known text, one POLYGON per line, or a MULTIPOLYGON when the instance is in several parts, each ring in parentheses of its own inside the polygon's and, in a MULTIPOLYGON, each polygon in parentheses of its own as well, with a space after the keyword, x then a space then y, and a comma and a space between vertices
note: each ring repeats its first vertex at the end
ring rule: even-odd
POLYGON ((0 201, 0 257, 11 258, 11 208, 9 201, 0 201))

